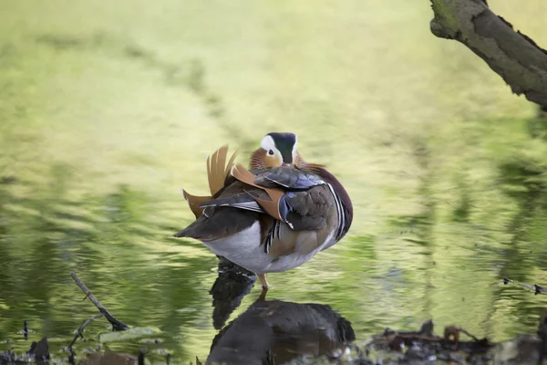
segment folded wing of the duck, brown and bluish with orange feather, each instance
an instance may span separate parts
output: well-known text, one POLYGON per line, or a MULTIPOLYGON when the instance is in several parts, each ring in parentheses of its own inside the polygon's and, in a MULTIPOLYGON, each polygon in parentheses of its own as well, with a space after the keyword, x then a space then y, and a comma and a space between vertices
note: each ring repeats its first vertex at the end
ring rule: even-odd
POLYGON ((264 251, 277 258, 307 255, 335 230, 335 198, 319 177, 294 168, 247 171, 241 165, 231 175, 219 193, 200 203, 201 217, 175 236, 212 241, 260 222, 264 251))

